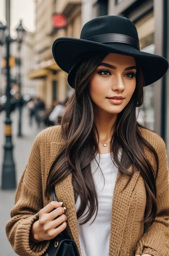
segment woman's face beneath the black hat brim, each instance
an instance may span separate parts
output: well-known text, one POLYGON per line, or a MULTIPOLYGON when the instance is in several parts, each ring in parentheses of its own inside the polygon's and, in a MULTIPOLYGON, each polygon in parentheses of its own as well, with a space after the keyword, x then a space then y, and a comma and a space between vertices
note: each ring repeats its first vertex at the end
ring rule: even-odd
POLYGON ((98 109, 118 114, 129 103, 136 86, 134 57, 109 53, 99 63, 89 84, 89 94, 98 109))

